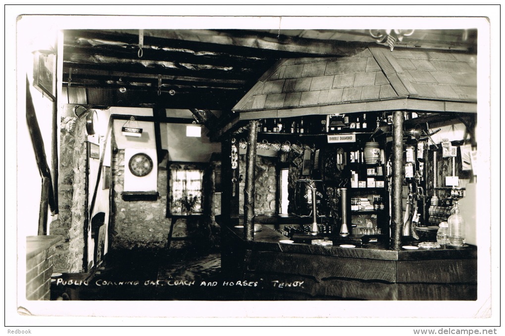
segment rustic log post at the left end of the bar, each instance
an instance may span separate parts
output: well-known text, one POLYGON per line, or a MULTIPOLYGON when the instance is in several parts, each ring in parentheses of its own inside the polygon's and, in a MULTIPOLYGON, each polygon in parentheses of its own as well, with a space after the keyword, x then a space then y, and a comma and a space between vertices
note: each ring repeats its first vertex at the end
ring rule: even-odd
POLYGON ((255 165, 258 123, 258 120, 249 121, 249 134, 247 136, 247 152, 245 157, 244 236, 247 241, 254 240, 254 208, 256 197, 255 165))

